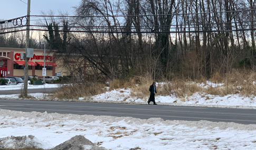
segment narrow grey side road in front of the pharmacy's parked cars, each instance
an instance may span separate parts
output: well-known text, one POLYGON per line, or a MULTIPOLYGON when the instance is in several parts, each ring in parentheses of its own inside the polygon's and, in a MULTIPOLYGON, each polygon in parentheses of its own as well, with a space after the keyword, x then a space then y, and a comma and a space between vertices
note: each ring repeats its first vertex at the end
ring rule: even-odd
MULTIPOLYGON (((35 89, 27 89, 28 93, 52 93, 58 89, 58 87, 55 88, 35 88, 35 89)), ((0 89, 0 95, 10 95, 10 94, 20 94, 21 89, 12 89, 12 90, 2 90, 0 89)))

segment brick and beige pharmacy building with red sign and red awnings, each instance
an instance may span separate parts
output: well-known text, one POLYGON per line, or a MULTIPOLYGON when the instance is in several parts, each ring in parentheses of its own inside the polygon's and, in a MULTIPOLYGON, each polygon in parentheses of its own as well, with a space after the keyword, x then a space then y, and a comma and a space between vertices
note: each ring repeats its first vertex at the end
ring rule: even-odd
MULTIPOLYGON (((0 47, 0 77, 5 76, 24 76, 25 60, 21 54, 25 53, 25 48, 1 48, 0 47)), ((42 77, 42 68, 44 66, 44 50, 34 49, 34 55, 29 58, 29 76, 37 75, 42 77)), ((54 54, 46 50, 45 68, 46 76, 55 75, 55 57, 54 54)))

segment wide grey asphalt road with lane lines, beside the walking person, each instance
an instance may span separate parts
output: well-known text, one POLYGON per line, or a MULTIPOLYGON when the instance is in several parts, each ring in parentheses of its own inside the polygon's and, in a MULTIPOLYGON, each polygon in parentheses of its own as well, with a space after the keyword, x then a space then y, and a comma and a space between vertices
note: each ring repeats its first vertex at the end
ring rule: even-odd
POLYGON ((45 112, 79 115, 129 116, 165 120, 235 122, 256 124, 256 109, 186 107, 168 105, 135 105, 87 102, 32 101, 0 99, 0 108, 23 112, 45 112))

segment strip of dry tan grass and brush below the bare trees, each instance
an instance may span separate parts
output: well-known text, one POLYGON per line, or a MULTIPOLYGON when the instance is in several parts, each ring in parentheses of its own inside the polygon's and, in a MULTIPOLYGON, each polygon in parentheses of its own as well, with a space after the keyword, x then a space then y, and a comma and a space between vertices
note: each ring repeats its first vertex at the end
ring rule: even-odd
MULTIPOLYGON (((191 96, 194 93, 203 95, 240 94, 241 96, 256 95, 256 73, 244 70, 233 70, 230 74, 221 75, 216 72, 212 78, 192 81, 189 79, 174 78, 172 81, 158 81, 157 95, 175 95, 179 98, 191 96), (207 82, 208 81, 208 82, 207 82)), ((131 89, 131 96, 145 98, 149 96, 149 86, 153 79, 148 76, 134 76, 129 79, 122 79, 102 83, 81 83, 63 85, 61 89, 53 94, 53 98, 79 98, 98 95, 113 89, 131 89)))

